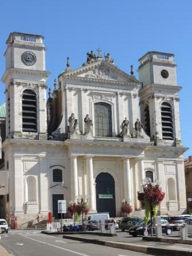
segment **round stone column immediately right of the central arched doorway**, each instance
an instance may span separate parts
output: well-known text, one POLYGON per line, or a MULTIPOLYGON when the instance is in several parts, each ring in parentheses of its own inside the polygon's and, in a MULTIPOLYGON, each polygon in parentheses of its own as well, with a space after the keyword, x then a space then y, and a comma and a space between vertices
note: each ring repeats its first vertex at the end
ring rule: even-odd
POLYGON ((131 202, 131 178, 130 178, 130 163, 129 158, 123 159, 123 174, 124 174, 124 196, 127 201, 131 202))

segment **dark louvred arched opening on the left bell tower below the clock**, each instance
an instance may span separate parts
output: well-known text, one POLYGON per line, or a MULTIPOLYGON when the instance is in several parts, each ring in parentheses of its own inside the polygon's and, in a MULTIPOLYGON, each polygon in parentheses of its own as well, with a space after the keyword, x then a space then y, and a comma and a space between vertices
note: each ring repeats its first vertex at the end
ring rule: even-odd
POLYGON ((32 90, 23 91, 22 130, 37 132, 37 95, 32 90))

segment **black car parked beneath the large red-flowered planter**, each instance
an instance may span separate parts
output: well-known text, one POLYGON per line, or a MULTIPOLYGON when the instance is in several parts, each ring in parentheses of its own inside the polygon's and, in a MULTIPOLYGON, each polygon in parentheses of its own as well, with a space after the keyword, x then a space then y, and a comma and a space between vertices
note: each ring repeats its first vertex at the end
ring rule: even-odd
MULTIPOLYGON (((167 219, 161 218, 161 224, 168 225, 169 222, 167 219)), ((171 233, 171 226, 162 226, 162 234, 171 235, 171 233)), ((133 235, 133 237, 151 234, 151 222, 149 221, 147 225, 143 221, 139 222, 137 225, 130 227, 129 234, 133 235)), ((155 234, 155 227, 153 227, 153 234, 155 234)))

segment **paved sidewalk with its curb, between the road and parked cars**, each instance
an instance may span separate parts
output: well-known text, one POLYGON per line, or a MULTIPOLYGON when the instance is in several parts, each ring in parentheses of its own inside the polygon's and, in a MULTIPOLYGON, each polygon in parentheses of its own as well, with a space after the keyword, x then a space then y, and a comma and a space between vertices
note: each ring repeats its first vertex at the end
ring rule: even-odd
POLYGON ((96 243, 98 245, 110 246, 119 249, 138 251, 139 253, 157 255, 157 256, 192 256, 192 241, 189 244, 183 243, 177 238, 161 238, 159 241, 152 241, 154 238, 141 237, 141 240, 129 241, 125 236, 120 237, 103 237, 100 235, 84 233, 84 234, 65 234, 63 238, 74 239, 87 243, 96 243))

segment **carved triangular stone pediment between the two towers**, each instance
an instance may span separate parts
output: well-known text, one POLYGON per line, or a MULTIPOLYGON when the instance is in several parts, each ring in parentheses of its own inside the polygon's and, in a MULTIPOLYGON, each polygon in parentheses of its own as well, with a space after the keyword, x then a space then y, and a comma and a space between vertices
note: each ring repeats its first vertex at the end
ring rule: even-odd
POLYGON ((106 61, 96 62, 80 69, 66 72, 63 77, 83 80, 91 79, 92 81, 94 79, 95 81, 102 80, 103 82, 139 83, 133 75, 126 74, 106 61))

